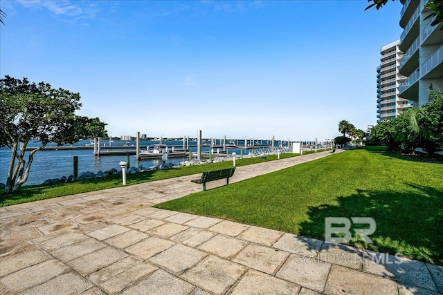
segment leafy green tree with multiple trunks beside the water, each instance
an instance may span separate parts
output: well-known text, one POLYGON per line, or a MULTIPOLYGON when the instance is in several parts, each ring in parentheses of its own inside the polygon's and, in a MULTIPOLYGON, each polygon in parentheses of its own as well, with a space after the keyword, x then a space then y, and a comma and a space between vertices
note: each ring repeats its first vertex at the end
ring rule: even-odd
POLYGON ((80 94, 50 84, 30 83, 6 75, 0 80, 0 146, 11 149, 6 193, 19 191, 28 180, 34 154, 49 142, 73 144, 82 138, 106 136, 104 122, 97 117, 75 115, 82 104, 80 94), (30 140, 40 140, 26 158, 30 140))

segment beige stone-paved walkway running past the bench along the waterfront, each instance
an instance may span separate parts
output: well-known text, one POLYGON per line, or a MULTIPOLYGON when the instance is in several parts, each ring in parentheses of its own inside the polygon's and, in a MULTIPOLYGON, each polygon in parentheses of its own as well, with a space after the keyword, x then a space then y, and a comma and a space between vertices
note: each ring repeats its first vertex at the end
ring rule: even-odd
POLYGON ((0 208, 0 294, 443 294, 443 267, 152 207, 201 191, 194 178, 0 208))

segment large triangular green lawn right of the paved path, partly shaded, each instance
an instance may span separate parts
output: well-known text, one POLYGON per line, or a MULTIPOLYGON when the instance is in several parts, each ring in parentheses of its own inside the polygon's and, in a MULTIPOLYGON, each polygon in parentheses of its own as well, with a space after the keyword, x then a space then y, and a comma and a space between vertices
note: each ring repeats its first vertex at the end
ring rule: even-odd
POLYGON ((374 244, 351 244, 443 265, 443 164, 379 150, 338 153, 156 207, 319 239, 325 217, 370 217, 374 244))

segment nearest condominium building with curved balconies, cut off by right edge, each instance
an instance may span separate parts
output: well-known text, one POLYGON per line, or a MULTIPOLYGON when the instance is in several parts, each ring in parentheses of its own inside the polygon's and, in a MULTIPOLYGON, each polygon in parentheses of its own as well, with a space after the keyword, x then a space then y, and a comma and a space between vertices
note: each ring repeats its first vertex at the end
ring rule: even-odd
POLYGON ((399 97, 421 106, 428 102, 431 84, 443 91, 443 24, 431 26, 426 19, 432 10, 425 8, 429 0, 401 0, 401 33, 399 50, 404 52, 399 73, 407 79, 399 87, 399 97))

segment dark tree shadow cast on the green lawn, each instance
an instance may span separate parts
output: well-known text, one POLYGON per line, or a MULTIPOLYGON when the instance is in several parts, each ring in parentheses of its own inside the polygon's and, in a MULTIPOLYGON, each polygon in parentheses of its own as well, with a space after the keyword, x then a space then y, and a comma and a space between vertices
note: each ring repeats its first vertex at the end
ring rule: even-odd
MULTIPOLYGON (((443 265, 443 191, 409 184, 415 191, 363 191, 336 199, 338 204, 309 207, 309 220, 300 224, 300 235, 325 238, 326 217, 370 217, 377 230, 350 245, 443 265)), ((359 225, 353 225, 354 228, 359 225)))

